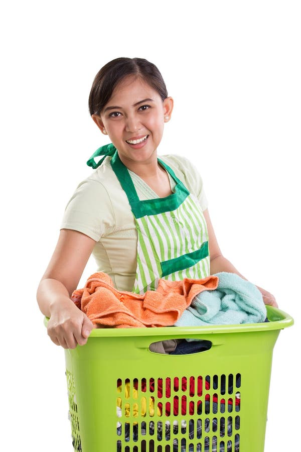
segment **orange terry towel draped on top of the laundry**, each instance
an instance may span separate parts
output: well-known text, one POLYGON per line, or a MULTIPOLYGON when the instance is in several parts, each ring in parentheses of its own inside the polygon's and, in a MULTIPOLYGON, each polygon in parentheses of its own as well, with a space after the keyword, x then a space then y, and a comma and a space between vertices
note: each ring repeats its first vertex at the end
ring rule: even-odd
POLYGON ((140 295, 116 290, 111 278, 99 272, 91 275, 85 287, 75 290, 71 298, 100 327, 172 326, 196 295, 214 290, 217 285, 217 276, 183 281, 160 279, 157 290, 140 295))

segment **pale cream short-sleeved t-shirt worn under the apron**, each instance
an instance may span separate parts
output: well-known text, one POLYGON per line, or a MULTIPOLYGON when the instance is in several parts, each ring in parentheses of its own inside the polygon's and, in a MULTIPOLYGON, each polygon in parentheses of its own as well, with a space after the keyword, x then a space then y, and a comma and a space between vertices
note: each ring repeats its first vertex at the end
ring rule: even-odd
MULTIPOLYGON (((188 190, 200 201, 202 210, 208 202, 202 179, 184 157, 160 156, 188 190)), ((107 273, 117 290, 131 291, 136 276, 137 234, 127 196, 106 157, 87 179, 82 181, 68 202, 61 229, 79 231, 96 241, 93 256, 97 271, 107 273)), ((158 195, 136 174, 129 172, 140 200, 158 195)), ((175 186, 170 177, 171 189, 175 186)), ((174 191, 174 190, 173 190, 174 191)))

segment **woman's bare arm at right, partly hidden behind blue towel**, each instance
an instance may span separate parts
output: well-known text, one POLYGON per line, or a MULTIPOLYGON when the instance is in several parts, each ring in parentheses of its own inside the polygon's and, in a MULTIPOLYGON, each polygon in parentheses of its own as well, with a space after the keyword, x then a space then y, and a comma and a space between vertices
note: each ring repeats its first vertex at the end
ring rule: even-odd
MULTIPOLYGON (((216 236, 214 233, 214 229, 211 223, 211 219, 209 216, 208 209, 204 210, 204 216, 207 223, 208 236, 209 236, 209 252, 210 252, 210 273, 214 275, 219 272, 229 272, 236 273, 241 278, 246 279, 239 271, 231 264, 228 259, 226 259, 220 250, 220 247, 217 243, 216 236)), ((265 289, 257 286, 260 292, 262 293, 263 301, 265 304, 269 304, 271 306, 278 306, 275 300, 275 297, 267 292, 265 289)))

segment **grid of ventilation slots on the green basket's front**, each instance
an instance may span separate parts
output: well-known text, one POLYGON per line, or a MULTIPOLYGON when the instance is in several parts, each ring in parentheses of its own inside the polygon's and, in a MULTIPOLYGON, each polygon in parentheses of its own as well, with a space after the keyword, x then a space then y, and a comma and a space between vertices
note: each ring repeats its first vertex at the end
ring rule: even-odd
POLYGON ((117 452, 239 452, 241 375, 117 380, 117 452))

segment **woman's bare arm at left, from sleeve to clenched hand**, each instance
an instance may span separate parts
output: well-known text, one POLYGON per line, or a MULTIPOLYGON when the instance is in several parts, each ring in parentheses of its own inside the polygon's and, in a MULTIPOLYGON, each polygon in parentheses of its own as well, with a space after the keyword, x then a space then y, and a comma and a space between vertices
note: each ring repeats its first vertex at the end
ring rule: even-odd
POLYGON ((65 349, 84 345, 93 323, 70 299, 77 288, 95 241, 77 231, 63 229, 37 291, 41 312, 50 317, 51 340, 65 349))

